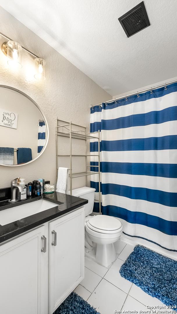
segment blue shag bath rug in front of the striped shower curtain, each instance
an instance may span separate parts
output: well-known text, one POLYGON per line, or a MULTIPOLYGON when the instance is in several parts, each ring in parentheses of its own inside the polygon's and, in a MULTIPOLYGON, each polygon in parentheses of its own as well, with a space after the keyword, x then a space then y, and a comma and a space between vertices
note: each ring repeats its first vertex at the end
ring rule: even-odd
POLYGON ((119 272, 148 295, 177 310, 177 261, 137 245, 119 272))

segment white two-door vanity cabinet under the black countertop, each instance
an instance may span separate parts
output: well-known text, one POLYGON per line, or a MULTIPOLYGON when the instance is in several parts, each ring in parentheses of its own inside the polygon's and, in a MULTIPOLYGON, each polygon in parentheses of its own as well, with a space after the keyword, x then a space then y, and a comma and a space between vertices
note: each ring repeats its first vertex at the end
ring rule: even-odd
POLYGON ((52 314, 84 278, 85 208, 0 245, 0 313, 52 314))

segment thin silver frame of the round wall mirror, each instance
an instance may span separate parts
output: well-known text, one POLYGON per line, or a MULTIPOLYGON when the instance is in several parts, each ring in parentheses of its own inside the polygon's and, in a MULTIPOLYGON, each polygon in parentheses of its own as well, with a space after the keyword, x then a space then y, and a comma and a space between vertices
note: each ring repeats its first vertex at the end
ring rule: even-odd
POLYGON ((3 165, 3 164, 0 164, 1 166, 6 166, 6 167, 19 167, 19 166, 25 166, 25 165, 28 165, 30 164, 31 162, 35 161, 37 158, 39 158, 41 156, 41 154, 44 152, 44 150, 46 149, 47 147, 47 143, 48 143, 48 138, 49 138, 49 128, 48 128, 48 123, 47 123, 47 119, 46 117, 44 116, 43 112, 41 111, 40 107, 37 105, 37 103, 30 97, 28 96, 27 94, 25 94, 24 92, 22 92, 21 90, 19 89, 16 89, 14 87, 11 87, 11 86, 7 86, 7 85, 1 85, 0 84, 0 87, 4 87, 4 88, 8 88, 8 89, 13 89, 15 90, 16 92, 24 95, 25 97, 27 97, 29 100, 31 100, 33 102, 33 104, 39 109, 39 111, 41 112, 41 115, 43 116, 44 118, 44 122, 45 122, 45 125, 46 125, 46 143, 43 147, 43 149, 41 150, 41 152, 39 153, 39 155, 36 156, 36 158, 26 162, 25 164, 21 164, 21 165, 3 165))

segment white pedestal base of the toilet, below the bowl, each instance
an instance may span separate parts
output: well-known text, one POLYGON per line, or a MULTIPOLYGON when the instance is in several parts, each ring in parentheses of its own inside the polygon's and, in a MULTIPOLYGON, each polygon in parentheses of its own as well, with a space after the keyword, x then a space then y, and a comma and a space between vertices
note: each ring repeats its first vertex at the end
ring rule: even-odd
POLYGON ((116 252, 113 243, 97 244, 96 261, 102 266, 108 267, 116 260, 116 252))

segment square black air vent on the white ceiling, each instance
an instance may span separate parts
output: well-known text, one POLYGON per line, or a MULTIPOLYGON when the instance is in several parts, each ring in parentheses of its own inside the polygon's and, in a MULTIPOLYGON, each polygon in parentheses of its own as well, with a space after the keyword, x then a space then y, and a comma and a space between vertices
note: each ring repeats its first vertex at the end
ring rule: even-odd
POLYGON ((144 2, 142 1, 136 5, 136 7, 122 15, 119 18, 119 22, 122 25, 127 37, 130 37, 149 26, 150 22, 144 2))

